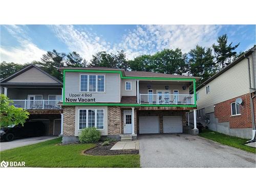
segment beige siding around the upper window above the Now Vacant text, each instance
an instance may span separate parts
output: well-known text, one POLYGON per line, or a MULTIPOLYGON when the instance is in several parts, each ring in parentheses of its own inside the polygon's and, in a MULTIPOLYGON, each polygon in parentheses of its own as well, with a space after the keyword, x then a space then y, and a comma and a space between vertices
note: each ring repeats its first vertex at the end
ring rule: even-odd
MULTIPOLYGON (((96 102, 120 102, 120 77, 117 73, 75 73, 66 72, 65 97, 69 94, 92 94, 96 102), (105 75, 104 92, 80 92, 80 74, 105 75)), ((84 97, 86 98, 86 97, 84 97)), ((89 98, 89 97, 88 97, 89 98)))

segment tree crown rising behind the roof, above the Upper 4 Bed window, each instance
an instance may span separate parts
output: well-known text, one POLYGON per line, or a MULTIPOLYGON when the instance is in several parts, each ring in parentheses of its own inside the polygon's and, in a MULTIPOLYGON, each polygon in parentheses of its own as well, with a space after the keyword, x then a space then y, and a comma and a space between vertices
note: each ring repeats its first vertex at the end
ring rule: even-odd
POLYGON ((87 61, 83 59, 78 53, 73 51, 67 55, 67 67, 86 67, 87 61))

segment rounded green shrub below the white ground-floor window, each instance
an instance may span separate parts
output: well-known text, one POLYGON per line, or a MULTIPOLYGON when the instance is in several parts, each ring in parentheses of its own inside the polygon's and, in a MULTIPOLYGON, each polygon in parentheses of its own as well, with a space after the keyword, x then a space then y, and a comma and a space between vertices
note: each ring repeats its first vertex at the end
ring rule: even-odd
POLYGON ((88 127, 82 130, 78 136, 81 143, 93 143, 100 140, 100 131, 96 127, 88 127))

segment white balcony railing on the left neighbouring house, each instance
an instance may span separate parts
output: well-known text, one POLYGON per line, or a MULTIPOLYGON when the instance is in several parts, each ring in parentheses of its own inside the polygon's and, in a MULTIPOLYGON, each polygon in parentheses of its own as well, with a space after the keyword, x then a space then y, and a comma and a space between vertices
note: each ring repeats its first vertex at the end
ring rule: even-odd
POLYGON ((10 100, 10 105, 23 109, 60 109, 60 100, 10 100))

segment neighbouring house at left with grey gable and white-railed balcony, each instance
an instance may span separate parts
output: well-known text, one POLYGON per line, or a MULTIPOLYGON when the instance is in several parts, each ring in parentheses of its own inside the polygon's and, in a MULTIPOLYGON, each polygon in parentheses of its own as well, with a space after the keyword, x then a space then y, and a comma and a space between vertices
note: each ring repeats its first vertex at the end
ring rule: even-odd
POLYGON ((1 93, 12 104, 27 109, 28 121, 42 121, 45 135, 61 135, 62 82, 40 68, 29 65, 13 75, 1 79, 1 93))

